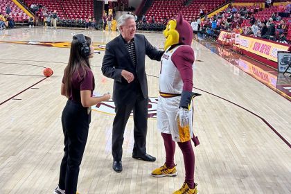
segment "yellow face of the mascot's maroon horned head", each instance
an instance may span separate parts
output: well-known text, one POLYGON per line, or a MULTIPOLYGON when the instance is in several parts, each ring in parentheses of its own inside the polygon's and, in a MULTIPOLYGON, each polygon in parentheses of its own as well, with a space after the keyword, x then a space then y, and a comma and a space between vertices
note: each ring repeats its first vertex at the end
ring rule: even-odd
POLYGON ((166 29, 163 32, 164 36, 166 37, 166 42, 165 42, 165 46, 164 46, 165 51, 173 44, 179 43, 179 33, 176 30, 176 27, 177 27, 176 20, 168 21, 166 29))

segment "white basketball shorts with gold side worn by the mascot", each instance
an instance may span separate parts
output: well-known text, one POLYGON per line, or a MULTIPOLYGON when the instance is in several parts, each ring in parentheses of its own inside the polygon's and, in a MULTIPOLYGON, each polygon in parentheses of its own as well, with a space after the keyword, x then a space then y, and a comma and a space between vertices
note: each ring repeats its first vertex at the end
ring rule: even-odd
POLYGON ((173 141, 185 142, 193 137, 192 116, 193 109, 189 111, 189 125, 180 127, 176 116, 179 112, 181 96, 164 98, 159 96, 157 104, 157 128, 159 132, 172 134, 173 141))

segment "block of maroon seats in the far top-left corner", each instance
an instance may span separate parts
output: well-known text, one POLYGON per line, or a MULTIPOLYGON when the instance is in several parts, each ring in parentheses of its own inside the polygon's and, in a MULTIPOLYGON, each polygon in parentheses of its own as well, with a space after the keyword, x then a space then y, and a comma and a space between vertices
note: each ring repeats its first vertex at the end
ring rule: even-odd
POLYGON ((0 0, 0 12, 2 14, 6 14, 6 6, 10 6, 15 22, 23 23, 28 21, 28 15, 11 0, 0 0))

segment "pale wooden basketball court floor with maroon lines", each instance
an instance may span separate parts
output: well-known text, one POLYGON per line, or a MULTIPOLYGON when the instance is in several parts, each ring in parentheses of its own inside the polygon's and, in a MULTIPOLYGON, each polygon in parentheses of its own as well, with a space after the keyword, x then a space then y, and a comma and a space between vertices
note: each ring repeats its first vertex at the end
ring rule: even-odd
MULTIPOLYGON (((85 33, 100 47, 118 35, 43 28, 18 28, 0 35, 1 194, 53 193, 58 184, 63 155, 60 116, 66 103, 60 95, 60 83, 69 48, 34 44, 71 42, 74 33, 85 33), (51 78, 42 76, 44 67, 53 69, 51 78)), ((153 45, 163 47, 161 33, 144 35, 153 45)), ((291 193, 290 101, 202 44, 194 41, 193 48, 197 60, 193 90, 202 94, 195 98, 193 124, 200 139, 195 148, 199 193, 291 193)), ((96 91, 112 93, 113 81, 100 71, 104 51, 100 52, 91 60, 96 91)), ((150 97, 157 97, 160 64, 149 58, 145 61, 150 97)), ((123 143, 123 172, 115 173, 111 155, 113 118, 112 114, 92 112, 80 166, 80 193, 173 193, 182 186, 184 164, 178 146, 175 163, 179 175, 150 176, 165 160, 156 118, 148 121, 147 152, 157 161, 132 159, 130 118, 123 143)))

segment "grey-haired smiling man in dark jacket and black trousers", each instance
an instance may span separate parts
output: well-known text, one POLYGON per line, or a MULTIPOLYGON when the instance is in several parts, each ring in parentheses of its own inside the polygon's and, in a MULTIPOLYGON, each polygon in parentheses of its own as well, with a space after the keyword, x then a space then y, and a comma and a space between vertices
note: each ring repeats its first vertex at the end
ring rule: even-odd
POLYGON ((122 144, 125 125, 130 113, 134 114, 134 148, 132 157, 155 161, 146 153, 145 141, 148 130, 148 82, 145 74, 145 55, 161 60, 163 51, 154 48, 144 35, 136 35, 133 15, 118 18, 117 28, 121 35, 106 45, 102 72, 114 79, 113 100, 116 116, 112 129, 112 168, 122 171, 122 144))

